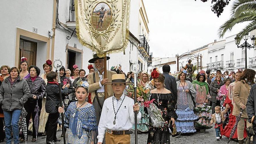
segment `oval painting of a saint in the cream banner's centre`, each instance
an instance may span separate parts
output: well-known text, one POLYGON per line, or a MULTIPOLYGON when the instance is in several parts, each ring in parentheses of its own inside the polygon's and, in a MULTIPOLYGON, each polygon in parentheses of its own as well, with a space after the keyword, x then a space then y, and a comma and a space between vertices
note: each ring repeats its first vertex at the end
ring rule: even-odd
POLYGON ((111 9, 106 3, 98 3, 92 14, 92 25, 97 31, 104 31, 111 22, 111 9))

